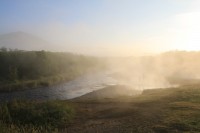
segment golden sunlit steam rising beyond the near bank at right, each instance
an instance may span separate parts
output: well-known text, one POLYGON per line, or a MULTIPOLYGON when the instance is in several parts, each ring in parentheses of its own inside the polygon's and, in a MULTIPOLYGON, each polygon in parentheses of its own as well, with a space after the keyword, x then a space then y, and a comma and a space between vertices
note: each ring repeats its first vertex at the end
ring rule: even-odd
POLYGON ((200 52, 172 51, 156 56, 110 58, 109 69, 118 84, 134 89, 168 88, 200 78, 200 52), (179 82, 178 82, 179 81, 179 82))

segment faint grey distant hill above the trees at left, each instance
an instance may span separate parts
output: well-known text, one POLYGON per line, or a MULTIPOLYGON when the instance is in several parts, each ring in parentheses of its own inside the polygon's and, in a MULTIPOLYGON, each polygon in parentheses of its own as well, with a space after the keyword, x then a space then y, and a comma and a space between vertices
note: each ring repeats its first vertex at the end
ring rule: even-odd
POLYGON ((12 32, 0 35, 0 47, 20 50, 49 50, 52 44, 35 35, 25 32, 12 32))

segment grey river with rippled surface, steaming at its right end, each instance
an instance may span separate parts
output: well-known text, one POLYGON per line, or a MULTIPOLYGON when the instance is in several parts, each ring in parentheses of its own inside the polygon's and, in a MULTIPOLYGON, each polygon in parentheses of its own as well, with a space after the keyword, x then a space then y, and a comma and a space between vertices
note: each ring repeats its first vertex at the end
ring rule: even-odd
POLYGON ((112 76, 110 72, 95 73, 84 75, 76 80, 69 81, 64 84, 55 85, 45 88, 37 88, 24 91, 14 91, 9 93, 0 93, 0 101, 11 100, 14 98, 32 99, 32 100, 49 100, 49 99, 72 99, 94 90, 104 88, 108 85, 128 85, 133 89, 148 89, 148 88, 164 88, 168 87, 162 84, 149 84, 147 81, 138 82, 137 78, 118 79, 112 76))

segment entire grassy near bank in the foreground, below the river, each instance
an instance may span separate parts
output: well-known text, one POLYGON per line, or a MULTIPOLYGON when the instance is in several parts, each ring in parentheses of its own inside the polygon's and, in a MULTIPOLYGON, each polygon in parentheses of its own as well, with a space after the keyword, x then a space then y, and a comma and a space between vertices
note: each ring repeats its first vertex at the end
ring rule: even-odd
MULTIPOLYGON (((121 86, 122 87, 122 86, 121 86)), ((123 89, 123 88, 122 88, 123 89)), ((25 104, 29 110, 18 108, 24 111, 23 117, 30 117, 31 123, 20 117, 1 118, 1 131, 17 132, 15 128, 23 127, 24 132, 62 132, 62 133, 198 133, 200 132, 200 86, 185 85, 178 88, 152 89, 143 91, 137 96, 118 96, 115 98, 98 99, 74 99, 71 101, 56 101, 51 105, 49 111, 54 110, 51 115, 44 109, 32 110, 41 104, 25 104), (58 102, 59 104, 55 104, 58 102), (67 110, 73 110, 73 117, 63 113, 65 106, 67 110), (45 113, 39 113, 39 112, 45 113), (55 117, 55 114, 60 114, 55 117), (38 117, 38 114, 41 116, 38 117), (47 120, 52 119, 55 123, 47 120), (9 123, 10 118, 12 122, 9 123), (62 118, 62 119, 61 119, 62 118), (65 119, 68 118, 68 119, 65 119), (69 119, 70 118, 70 119, 69 119), (61 120, 65 121, 61 121, 61 120), (38 123, 38 121, 40 123, 38 123), (33 124, 35 123, 35 124, 33 124), (60 124, 62 126, 60 126, 60 124), (64 124, 64 125, 63 125, 64 124), (6 126, 6 127, 3 127, 6 126), (30 130, 39 129, 42 130, 30 130), (26 128, 25 128, 26 127, 26 128), (7 128, 7 129, 5 129, 7 128), (3 130, 4 129, 4 130, 3 130), (12 130, 14 129, 14 130, 12 130)), ((25 102, 26 103, 26 102, 25 102)), ((34 102, 35 103, 35 102, 34 102)), ((46 103, 47 104, 47 103, 46 103)), ((19 105, 19 104, 18 104, 19 105)), ((43 107, 45 104, 43 103, 43 107)), ((49 105, 49 104, 47 104, 49 105)), ((10 106, 8 106, 10 107, 10 106)), ((3 108, 1 108, 2 110, 3 108)), ((15 110, 15 113, 21 111, 15 110)), ((67 111, 66 110, 66 111, 67 111)), ((10 108, 11 114, 12 108, 10 108)), ((69 112, 69 111, 68 111, 69 112)), ((5 115, 2 115, 5 116, 5 115)), ((11 115, 12 116, 12 115, 11 115)), ((20 132, 20 130, 19 130, 20 132)))

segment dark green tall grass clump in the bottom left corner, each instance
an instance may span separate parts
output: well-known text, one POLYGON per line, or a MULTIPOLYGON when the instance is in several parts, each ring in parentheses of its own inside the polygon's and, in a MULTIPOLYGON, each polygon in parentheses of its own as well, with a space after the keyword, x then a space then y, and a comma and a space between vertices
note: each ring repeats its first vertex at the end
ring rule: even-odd
POLYGON ((0 105, 0 132, 59 132, 72 122, 73 117, 73 108, 63 101, 14 100, 0 105))

